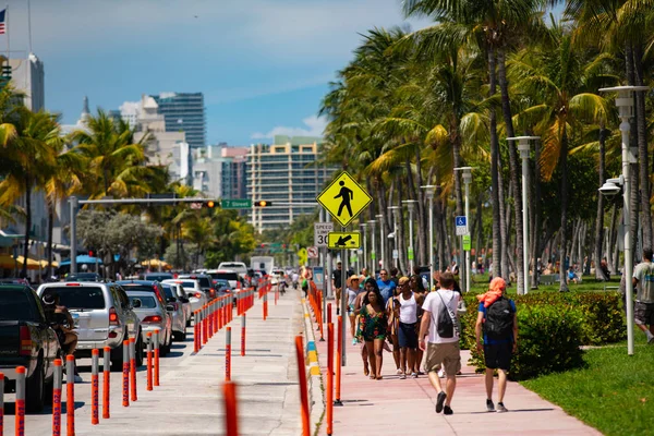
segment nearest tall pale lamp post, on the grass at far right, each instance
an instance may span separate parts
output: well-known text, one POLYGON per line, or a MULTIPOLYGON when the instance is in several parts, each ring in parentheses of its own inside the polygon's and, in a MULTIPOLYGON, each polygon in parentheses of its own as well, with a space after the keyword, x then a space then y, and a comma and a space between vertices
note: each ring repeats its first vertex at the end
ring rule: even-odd
MULTIPOLYGON (((630 187, 631 187, 631 171, 629 165, 638 161, 635 147, 629 147, 629 131, 631 125, 629 119, 633 117, 633 92, 647 90, 647 86, 616 86, 613 88, 602 88, 601 92, 618 93, 616 106, 619 110, 620 133, 622 134, 622 198, 625 205, 622 207, 622 219, 625 226, 625 280, 626 298, 627 298, 627 353, 633 355, 633 253, 631 253, 631 204, 630 204, 630 187)), ((615 186, 615 184, 614 184, 615 186)), ((615 195, 618 190, 606 192, 601 190, 601 193, 615 195)))

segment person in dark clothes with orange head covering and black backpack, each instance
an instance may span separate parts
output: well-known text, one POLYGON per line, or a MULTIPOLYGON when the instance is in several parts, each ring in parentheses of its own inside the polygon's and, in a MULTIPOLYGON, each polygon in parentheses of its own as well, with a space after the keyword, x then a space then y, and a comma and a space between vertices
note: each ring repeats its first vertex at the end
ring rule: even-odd
POLYGON ((474 329, 477 350, 484 353, 486 364, 486 410, 499 413, 508 412, 504 404, 504 396, 507 390, 507 373, 511 365, 511 356, 518 347, 516 303, 505 296, 506 290, 506 281, 501 277, 496 277, 491 282, 488 292, 477 295, 480 308, 474 329), (497 409, 493 403, 495 370, 498 372, 497 409))

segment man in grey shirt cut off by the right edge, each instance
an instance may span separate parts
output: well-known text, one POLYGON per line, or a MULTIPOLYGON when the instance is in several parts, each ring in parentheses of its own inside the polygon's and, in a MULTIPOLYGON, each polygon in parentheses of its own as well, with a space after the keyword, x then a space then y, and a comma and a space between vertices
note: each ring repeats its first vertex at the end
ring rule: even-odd
POLYGON ((635 325, 647 336, 647 343, 654 344, 654 264, 652 249, 643 250, 643 262, 633 269, 633 286, 638 286, 633 317, 635 325), (647 327, 650 327, 647 329, 647 327))

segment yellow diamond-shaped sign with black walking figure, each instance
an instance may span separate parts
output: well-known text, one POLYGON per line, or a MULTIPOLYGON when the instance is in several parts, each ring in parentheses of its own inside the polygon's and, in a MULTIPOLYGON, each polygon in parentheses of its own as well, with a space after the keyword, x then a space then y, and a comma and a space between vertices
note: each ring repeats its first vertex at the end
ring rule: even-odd
POLYGON ((361 214, 373 197, 347 171, 334 179, 334 182, 316 197, 334 219, 342 227, 348 226, 361 214))

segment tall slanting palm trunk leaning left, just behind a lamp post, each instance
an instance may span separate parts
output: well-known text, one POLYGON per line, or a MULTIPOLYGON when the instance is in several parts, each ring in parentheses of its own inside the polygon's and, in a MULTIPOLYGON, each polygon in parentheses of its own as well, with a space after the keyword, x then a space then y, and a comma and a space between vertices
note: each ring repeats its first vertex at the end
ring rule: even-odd
MULTIPOLYGON (((502 47, 497 49, 497 73, 499 81, 499 89, 501 93, 501 113, 509 137, 514 137, 513 120, 511 114, 511 100, 509 98, 509 83, 507 81, 506 55, 502 47)), ((518 253, 518 262, 516 262, 516 274, 518 275, 518 292, 522 293, 524 289, 523 263, 521 257, 524 255, 522 250, 524 235, 522 234, 522 207, 518 207, 518 202, 522 198, 522 189, 518 179, 520 178, 520 168, 518 162, 518 150, 516 142, 509 141, 509 173, 511 191, 514 198, 514 216, 516 216, 516 252, 518 253)), ((526 205, 524 205, 526 207, 526 205)), ((512 254, 512 253, 511 253, 512 254)), ((512 257, 512 256, 511 256, 512 257)))

